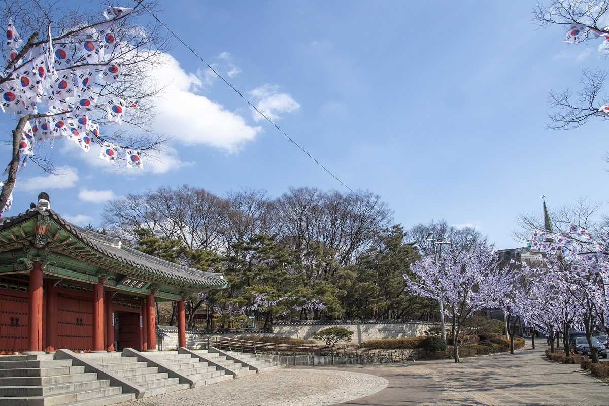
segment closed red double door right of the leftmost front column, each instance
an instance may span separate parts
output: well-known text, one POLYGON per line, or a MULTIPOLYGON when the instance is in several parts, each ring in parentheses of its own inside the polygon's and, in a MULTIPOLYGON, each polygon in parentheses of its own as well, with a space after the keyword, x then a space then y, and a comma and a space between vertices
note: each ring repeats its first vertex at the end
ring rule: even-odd
POLYGON ((72 351, 93 348, 93 299, 91 296, 57 295, 57 348, 72 351))

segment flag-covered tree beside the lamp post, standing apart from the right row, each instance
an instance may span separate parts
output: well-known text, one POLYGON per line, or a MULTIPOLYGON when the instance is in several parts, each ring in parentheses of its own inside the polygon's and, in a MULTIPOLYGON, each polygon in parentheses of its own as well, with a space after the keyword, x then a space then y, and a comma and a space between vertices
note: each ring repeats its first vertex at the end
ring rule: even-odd
POLYGON ((493 245, 481 243, 476 248, 440 261, 424 256, 412 266, 412 275, 404 275, 407 289, 426 298, 446 303, 445 313, 452 318, 452 352, 459 362, 459 332, 463 321, 476 310, 496 305, 505 291, 505 281, 496 281, 498 255, 493 245))

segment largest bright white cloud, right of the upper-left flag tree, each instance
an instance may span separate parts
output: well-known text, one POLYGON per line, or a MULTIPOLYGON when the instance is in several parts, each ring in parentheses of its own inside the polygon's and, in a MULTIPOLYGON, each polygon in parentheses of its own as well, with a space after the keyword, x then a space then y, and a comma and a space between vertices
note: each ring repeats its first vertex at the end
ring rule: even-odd
POLYGON ((195 92, 203 86, 197 75, 186 73, 171 55, 152 75, 166 86, 156 100, 155 130, 175 135, 181 145, 206 144, 234 152, 253 139, 260 127, 245 124, 243 117, 195 92))

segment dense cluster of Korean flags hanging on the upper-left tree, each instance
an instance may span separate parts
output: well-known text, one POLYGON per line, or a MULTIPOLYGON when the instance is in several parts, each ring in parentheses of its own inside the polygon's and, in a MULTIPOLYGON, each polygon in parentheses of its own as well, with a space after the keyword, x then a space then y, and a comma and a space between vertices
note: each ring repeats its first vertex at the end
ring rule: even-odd
MULTIPOLYGON (((13 80, 0 84, 0 107, 19 119, 26 114, 38 114, 38 103, 41 103, 47 106, 46 114, 49 114, 27 121, 19 142, 19 170, 26 167, 27 157, 33 155, 35 142, 49 141, 52 147, 54 139, 64 136, 85 152, 89 152, 92 143, 99 144, 102 147, 99 158, 117 163, 121 147, 100 137, 99 125, 90 115, 95 109, 105 108, 107 119, 121 125, 125 112, 137 107, 135 100, 122 100, 113 95, 101 97, 94 88, 96 79, 105 83, 119 80, 121 61, 112 58, 121 53, 114 20, 132 10, 108 6, 102 12, 105 23, 88 27, 74 37, 62 38, 55 43, 52 43, 49 30, 48 43, 33 47, 17 61, 15 58, 23 40, 9 19, 5 62, 12 68, 5 70, 3 76, 12 75, 13 80), (71 52, 70 45, 76 45, 76 53, 71 52), (21 156, 24 156, 23 161, 21 156)), ((141 169, 143 152, 130 148, 124 150, 127 167, 141 169)), ((3 175, 11 164, 12 161, 3 175)))

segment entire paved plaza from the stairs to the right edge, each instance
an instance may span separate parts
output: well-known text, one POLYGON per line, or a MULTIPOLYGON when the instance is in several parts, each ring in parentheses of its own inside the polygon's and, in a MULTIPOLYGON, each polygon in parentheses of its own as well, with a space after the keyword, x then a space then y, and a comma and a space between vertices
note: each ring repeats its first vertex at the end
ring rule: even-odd
POLYGON ((284 368, 122 405, 609 405, 609 385, 527 346, 459 364, 284 368))

